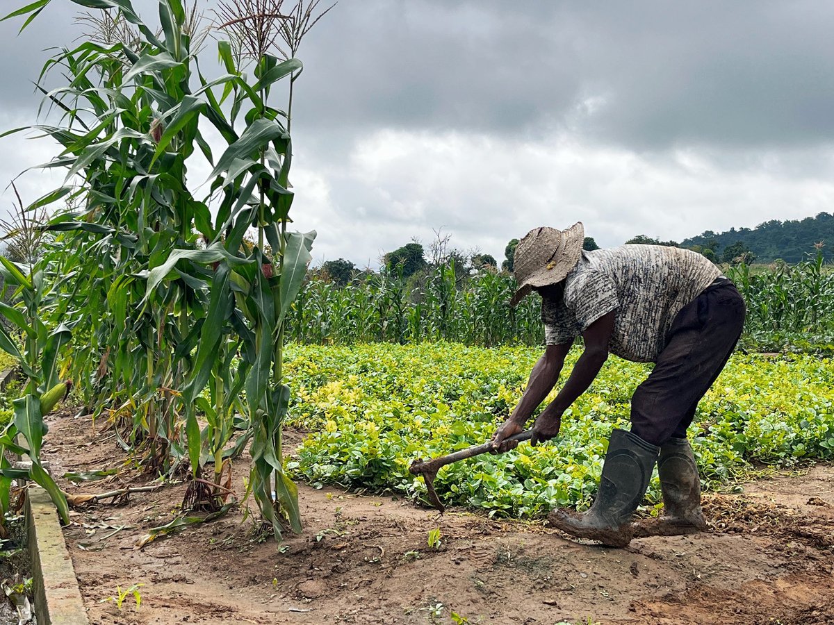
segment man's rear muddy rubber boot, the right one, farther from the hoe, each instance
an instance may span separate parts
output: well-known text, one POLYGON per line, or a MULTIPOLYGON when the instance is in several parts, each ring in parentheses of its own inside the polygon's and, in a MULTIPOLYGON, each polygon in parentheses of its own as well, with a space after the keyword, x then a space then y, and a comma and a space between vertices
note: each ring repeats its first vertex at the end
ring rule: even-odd
POLYGON ((635 537, 703 532, 706 521, 701 512, 701 479, 686 438, 672 438, 661 445, 657 473, 661 478, 663 515, 635 523, 635 537))

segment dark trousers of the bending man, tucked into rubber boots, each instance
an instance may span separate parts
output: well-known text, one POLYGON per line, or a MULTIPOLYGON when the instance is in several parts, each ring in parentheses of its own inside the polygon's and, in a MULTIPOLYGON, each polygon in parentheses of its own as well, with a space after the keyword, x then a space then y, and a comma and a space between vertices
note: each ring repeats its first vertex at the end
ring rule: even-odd
POLYGON ((631 432, 654 445, 686 438, 698 402, 736 348, 745 313, 736 285, 726 279, 681 309, 654 370, 631 398, 631 432))

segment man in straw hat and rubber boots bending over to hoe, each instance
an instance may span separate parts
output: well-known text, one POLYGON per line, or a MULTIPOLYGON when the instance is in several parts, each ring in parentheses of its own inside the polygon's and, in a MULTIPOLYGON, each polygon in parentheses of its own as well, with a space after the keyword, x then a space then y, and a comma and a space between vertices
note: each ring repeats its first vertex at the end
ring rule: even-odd
POLYGON ((655 368, 631 398, 631 432, 615 429, 600 489, 587 512, 550 512, 548 520, 575 537, 625 547, 632 537, 683 534, 706 527, 701 481, 686 440, 698 402, 730 358, 745 306, 730 280, 701 254, 655 245, 586 252, 581 223, 567 230, 535 228, 515 248, 515 306, 541 296, 545 354, 530 373, 518 406, 493 435, 493 448, 518 444, 533 411, 559 380, 565 356, 581 335, 584 351, 556 398, 540 413, 530 443, 559 433, 562 414, 593 382, 609 353, 655 368), (664 514, 631 524, 657 463, 664 514))

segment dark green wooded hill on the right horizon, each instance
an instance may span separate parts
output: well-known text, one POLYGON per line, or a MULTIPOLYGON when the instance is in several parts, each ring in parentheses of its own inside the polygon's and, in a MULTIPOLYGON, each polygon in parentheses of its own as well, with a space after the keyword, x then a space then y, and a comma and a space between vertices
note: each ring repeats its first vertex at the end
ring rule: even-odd
POLYGON ((722 258, 727 248, 738 243, 753 254, 756 263, 771 263, 776 258, 799 263, 809 255, 816 255, 815 243, 824 243, 822 252, 826 261, 831 262, 834 260, 834 215, 820 213, 801 221, 774 219, 752 229, 730 228, 726 233, 707 230, 682 241, 681 248, 711 249, 722 258))

